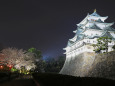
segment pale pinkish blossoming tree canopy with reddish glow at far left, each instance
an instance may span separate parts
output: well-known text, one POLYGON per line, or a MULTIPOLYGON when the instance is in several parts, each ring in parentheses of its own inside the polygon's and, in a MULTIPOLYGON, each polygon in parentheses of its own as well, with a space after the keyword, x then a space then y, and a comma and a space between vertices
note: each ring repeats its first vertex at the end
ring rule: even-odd
POLYGON ((35 56, 31 52, 26 52, 22 49, 6 48, 2 50, 2 54, 5 56, 5 62, 10 67, 14 67, 21 70, 21 67, 25 67, 26 70, 35 69, 35 56))

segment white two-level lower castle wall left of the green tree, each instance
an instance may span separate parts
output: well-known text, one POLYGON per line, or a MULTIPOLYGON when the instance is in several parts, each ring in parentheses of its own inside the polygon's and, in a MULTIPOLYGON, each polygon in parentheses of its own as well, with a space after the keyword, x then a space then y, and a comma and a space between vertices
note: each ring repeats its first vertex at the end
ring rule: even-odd
POLYGON ((81 54, 83 52, 94 52, 93 51, 93 47, 92 46, 89 46, 89 45, 85 45, 85 43, 90 43, 90 44, 93 44, 93 43, 96 43, 96 39, 84 39, 82 41, 79 41, 77 43, 75 43, 74 45, 68 47, 66 49, 66 57, 67 58, 72 58, 72 57, 75 57, 76 55, 78 54, 81 54))

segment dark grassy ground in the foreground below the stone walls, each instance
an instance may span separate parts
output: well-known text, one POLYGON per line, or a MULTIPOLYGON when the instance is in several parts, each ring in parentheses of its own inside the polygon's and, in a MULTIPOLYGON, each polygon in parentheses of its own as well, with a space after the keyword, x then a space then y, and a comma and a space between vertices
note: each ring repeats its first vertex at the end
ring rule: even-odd
POLYGON ((34 73, 33 78, 40 86, 115 86, 114 80, 69 75, 34 73))

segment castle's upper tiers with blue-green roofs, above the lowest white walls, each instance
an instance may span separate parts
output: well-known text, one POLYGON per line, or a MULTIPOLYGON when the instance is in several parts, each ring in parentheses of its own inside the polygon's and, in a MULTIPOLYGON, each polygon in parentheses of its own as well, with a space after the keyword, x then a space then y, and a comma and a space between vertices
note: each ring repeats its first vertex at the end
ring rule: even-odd
POLYGON ((100 16, 96 11, 94 11, 92 14, 87 14, 87 16, 79 23, 77 24, 77 30, 73 31, 75 33, 75 36, 71 39, 69 39, 67 46, 71 46, 74 43, 84 39, 84 38, 99 38, 108 36, 112 39, 115 39, 109 32, 115 31, 111 26, 114 24, 112 23, 105 23, 104 21, 108 18, 100 16), (86 31, 86 32, 85 32, 86 31), (90 35, 88 35, 88 32, 90 31, 90 35), (101 35, 91 35, 94 31, 99 31, 101 35), (92 33, 91 33, 92 32, 92 33), (87 33, 87 34, 86 34, 87 33))

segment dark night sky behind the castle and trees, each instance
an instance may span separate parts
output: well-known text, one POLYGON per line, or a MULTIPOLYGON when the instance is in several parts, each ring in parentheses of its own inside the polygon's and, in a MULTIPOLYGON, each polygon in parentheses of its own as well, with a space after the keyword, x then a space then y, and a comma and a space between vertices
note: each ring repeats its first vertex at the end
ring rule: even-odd
MULTIPOLYGON (((114 0, 0 0, 0 44, 28 49, 44 57, 63 55, 76 24, 96 8, 115 22, 114 0)), ((114 27, 114 26, 113 26, 114 27)))

